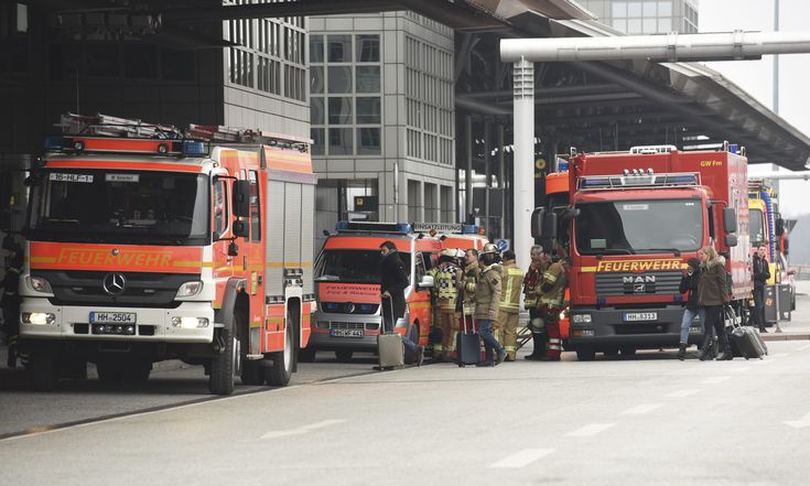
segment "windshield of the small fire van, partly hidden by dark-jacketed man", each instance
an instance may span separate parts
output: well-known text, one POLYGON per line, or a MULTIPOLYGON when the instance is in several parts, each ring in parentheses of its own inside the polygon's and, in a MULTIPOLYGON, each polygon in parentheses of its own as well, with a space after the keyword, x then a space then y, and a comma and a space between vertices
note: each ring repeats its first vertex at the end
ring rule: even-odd
MULTIPOLYGON (((410 278, 411 256, 398 251, 410 278)), ((323 250, 315 267, 318 282, 380 283, 379 250, 323 250)))

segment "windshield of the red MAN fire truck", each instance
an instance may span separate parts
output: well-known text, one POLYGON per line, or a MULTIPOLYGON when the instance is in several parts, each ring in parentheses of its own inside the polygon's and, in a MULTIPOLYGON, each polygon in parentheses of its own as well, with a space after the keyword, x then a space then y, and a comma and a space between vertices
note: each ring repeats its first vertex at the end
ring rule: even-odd
POLYGON ((576 207, 581 255, 695 251, 703 241, 700 201, 612 201, 576 207))

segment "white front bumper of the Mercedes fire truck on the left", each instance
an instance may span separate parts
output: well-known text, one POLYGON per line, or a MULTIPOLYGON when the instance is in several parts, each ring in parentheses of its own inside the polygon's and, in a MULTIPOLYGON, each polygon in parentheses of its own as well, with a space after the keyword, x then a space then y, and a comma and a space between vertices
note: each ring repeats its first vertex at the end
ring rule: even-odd
POLYGON ((214 310, 210 302, 183 302, 176 309, 105 307, 53 305, 47 299, 25 299, 20 305, 20 336, 26 341, 210 344, 214 337, 214 310), (101 333, 90 324, 91 312, 136 314, 133 334, 101 333), (25 322, 26 313, 52 316, 47 323, 25 322), (173 317, 207 318, 204 327, 172 324, 173 317))

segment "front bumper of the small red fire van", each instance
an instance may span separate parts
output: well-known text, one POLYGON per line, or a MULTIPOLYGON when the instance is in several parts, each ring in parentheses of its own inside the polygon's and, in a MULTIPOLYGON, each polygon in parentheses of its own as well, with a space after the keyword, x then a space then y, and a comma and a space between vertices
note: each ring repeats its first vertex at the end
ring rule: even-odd
POLYGON ((307 344, 310 349, 377 352, 377 336, 381 321, 379 315, 334 314, 318 311, 312 321, 312 334, 307 344), (359 337, 338 335, 346 330, 361 331, 363 335, 359 337))

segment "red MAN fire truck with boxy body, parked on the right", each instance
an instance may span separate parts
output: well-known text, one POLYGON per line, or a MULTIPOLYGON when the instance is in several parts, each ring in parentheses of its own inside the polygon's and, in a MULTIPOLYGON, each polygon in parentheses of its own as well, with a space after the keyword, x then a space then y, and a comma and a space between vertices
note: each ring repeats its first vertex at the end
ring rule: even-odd
MULTIPOLYGON (((750 295, 747 161, 724 150, 672 145, 572 154, 571 328, 577 358, 679 343, 685 261, 712 245, 725 257, 737 315, 750 295)), ((538 208, 534 237, 557 237, 558 215, 538 208)), ((690 344, 702 338, 700 323, 690 344)))

